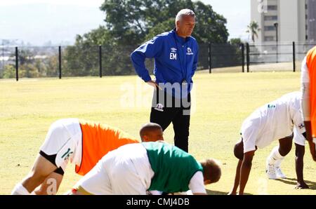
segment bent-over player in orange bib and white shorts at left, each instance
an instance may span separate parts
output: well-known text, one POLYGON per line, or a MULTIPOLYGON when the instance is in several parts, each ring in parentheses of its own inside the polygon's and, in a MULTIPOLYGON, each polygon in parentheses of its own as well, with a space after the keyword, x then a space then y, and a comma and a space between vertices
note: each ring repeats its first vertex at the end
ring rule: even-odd
MULTIPOLYGON (((142 142, 164 140, 162 127, 147 123, 142 142)), ((138 143, 118 128, 79 119, 60 119, 51 125, 31 172, 11 194, 56 194, 68 161, 79 175, 88 173, 107 154, 125 144, 138 143)))

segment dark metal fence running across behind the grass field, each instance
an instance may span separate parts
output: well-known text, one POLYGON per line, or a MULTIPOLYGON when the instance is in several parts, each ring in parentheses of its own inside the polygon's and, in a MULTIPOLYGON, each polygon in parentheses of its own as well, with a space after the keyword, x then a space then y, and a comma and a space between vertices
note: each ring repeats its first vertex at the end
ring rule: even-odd
MULTIPOLYGON (((316 43, 200 43, 197 70, 213 72, 298 71, 316 43)), ((0 46, 0 78, 118 76, 135 74, 137 46, 0 46)), ((154 60, 146 60, 150 73, 154 60)))

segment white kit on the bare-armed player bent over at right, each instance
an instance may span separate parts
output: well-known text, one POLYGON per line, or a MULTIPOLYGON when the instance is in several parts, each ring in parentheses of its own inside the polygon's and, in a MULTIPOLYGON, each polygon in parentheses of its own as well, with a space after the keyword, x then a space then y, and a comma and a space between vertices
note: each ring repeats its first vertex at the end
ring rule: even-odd
POLYGON ((301 114, 301 93, 294 92, 256 109, 242 123, 244 153, 267 147, 272 141, 289 137, 294 130, 305 132, 301 114))

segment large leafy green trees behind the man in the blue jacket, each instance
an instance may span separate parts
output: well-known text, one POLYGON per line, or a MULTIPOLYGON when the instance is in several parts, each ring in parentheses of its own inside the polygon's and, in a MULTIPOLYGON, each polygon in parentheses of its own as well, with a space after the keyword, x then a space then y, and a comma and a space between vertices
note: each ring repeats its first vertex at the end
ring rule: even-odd
POLYGON ((103 75, 135 74, 130 60, 132 51, 153 36, 173 29, 181 8, 195 11, 197 24, 192 35, 199 43, 227 42, 226 19, 201 1, 105 0, 100 6, 105 13, 105 26, 77 35, 74 46, 68 46, 63 53, 63 74, 98 75, 98 45, 103 46, 103 75))

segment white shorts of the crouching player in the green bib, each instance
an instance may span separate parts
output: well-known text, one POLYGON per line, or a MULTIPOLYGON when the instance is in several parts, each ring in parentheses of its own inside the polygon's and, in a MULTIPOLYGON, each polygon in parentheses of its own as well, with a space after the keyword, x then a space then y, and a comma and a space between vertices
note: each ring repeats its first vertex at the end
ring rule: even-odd
POLYGON ((145 195, 154 172, 142 144, 127 144, 110 151, 74 188, 96 195, 145 195))

